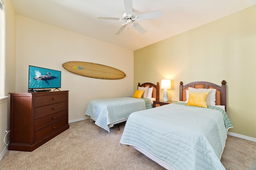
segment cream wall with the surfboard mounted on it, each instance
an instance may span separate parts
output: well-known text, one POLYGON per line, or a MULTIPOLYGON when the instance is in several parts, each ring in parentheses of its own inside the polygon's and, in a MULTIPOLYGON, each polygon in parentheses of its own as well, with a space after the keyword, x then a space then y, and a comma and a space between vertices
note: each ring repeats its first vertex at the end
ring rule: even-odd
POLYGON ((17 15, 16 92, 28 90, 28 65, 62 71, 60 90, 69 90, 69 121, 85 118, 92 99, 133 95, 133 51, 17 15), (84 61, 122 70, 119 80, 68 72, 67 61, 84 61))

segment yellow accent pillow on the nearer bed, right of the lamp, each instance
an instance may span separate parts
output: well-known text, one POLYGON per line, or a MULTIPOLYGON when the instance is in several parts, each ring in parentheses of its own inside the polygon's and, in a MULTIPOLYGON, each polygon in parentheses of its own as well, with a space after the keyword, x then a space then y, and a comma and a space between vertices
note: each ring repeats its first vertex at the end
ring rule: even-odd
POLYGON ((189 92, 187 106, 207 107, 206 98, 208 94, 208 92, 189 92))

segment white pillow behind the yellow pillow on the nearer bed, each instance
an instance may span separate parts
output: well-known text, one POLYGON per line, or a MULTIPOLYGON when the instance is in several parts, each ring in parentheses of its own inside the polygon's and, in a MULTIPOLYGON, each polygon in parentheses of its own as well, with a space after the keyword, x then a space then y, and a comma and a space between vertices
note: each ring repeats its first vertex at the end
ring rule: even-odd
MULTIPOLYGON (((208 96, 206 98, 207 106, 215 106, 215 96, 216 96, 216 89, 213 88, 188 88, 188 92, 208 92, 208 96)), ((186 92, 186 96, 189 96, 189 93, 186 92)), ((188 97, 187 97, 188 100, 188 97)))

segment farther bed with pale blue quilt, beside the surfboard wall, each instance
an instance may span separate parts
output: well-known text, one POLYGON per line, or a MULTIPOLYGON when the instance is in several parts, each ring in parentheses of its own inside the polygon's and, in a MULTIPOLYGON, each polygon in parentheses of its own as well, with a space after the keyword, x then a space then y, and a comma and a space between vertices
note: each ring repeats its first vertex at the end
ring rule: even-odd
POLYGON ((138 90, 144 91, 142 98, 124 97, 91 100, 85 115, 95 124, 110 132, 115 124, 128 119, 130 113, 152 108, 152 101, 159 100, 159 83, 138 83, 138 90))

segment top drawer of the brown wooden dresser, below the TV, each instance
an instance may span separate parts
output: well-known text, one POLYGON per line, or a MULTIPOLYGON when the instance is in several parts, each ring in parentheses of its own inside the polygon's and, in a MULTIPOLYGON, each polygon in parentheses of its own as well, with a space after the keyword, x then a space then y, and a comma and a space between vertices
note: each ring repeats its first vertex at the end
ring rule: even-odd
POLYGON ((48 104, 54 104, 58 102, 64 102, 66 100, 67 100, 67 96, 65 93, 35 96, 35 107, 45 106, 48 104))

